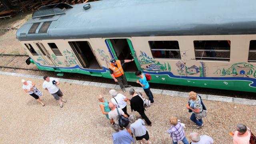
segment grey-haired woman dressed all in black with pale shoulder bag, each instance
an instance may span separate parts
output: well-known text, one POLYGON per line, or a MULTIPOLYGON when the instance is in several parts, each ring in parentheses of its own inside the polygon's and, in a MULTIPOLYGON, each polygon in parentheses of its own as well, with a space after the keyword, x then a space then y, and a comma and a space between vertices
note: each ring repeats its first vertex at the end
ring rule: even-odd
POLYGON ((150 120, 146 116, 144 112, 144 102, 142 98, 138 95, 137 92, 133 88, 130 88, 129 94, 132 96, 132 99, 130 100, 131 110, 137 111, 140 116, 146 121, 148 125, 151 125, 150 120))

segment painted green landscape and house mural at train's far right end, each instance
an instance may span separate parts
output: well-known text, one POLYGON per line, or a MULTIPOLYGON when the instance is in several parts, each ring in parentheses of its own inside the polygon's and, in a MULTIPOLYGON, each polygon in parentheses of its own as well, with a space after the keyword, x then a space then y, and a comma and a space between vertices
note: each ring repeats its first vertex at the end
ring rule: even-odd
POLYGON ((256 67, 247 62, 232 64, 229 68, 218 68, 214 74, 218 76, 253 77, 256 78, 256 67))

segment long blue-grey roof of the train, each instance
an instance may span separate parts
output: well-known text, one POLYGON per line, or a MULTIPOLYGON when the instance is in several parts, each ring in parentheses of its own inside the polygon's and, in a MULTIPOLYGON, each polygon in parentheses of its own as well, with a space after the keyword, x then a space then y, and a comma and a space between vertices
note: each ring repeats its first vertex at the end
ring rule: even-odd
POLYGON ((57 8, 46 6, 34 12, 38 18, 18 29, 16 38, 256 34, 255 7, 255 0, 101 0, 68 6, 64 13, 57 14, 57 8), (88 10, 83 8, 86 4, 91 6, 88 10), (55 15, 40 18, 44 12, 55 15), (52 21, 49 27, 47 21, 52 21), (33 23, 39 25, 28 34, 33 23), (42 25, 48 28, 47 32, 40 33, 42 25))

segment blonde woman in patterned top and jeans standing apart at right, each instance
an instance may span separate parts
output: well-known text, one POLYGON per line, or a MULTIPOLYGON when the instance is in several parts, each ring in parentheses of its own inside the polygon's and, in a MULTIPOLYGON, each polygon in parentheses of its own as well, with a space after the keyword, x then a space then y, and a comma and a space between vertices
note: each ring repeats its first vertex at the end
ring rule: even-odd
POLYGON ((204 126, 202 119, 196 119, 196 113, 200 113, 203 110, 200 97, 195 92, 189 92, 188 96, 190 98, 189 105, 187 104, 188 110, 192 110, 192 115, 190 120, 198 125, 196 129, 202 128, 204 126))

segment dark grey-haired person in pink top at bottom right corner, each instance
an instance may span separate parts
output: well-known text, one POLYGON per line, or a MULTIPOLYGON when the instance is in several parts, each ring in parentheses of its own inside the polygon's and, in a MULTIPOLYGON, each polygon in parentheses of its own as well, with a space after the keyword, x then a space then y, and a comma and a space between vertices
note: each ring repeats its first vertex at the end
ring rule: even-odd
POLYGON ((237 124, 233 144, 250 144, 251 133, 244 124, 237 124))

